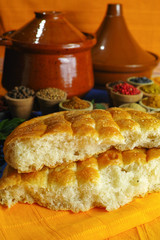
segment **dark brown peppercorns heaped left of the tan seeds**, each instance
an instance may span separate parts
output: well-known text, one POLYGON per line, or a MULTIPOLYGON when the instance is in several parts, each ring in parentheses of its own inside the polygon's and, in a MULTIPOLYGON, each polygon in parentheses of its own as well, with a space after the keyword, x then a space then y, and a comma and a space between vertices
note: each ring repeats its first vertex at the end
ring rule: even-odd
POLYGON ((19 86, 19 87, 14 87, 7 94, 11 98, 24 99, 24 98, 34 96, 35 92, 33 89, 27 88, 25 86, 19 86))

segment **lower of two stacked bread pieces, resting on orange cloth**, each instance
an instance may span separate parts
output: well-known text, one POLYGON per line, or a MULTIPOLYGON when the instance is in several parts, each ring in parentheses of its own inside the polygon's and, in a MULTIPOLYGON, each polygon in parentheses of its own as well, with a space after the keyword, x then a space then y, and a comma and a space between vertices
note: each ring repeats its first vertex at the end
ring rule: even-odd
POLYGON ((111 211, 154 191, 160 191, 160 149, 110 149, 33 173, 7 166, 0 179, 0 204, 37 203, 73 212, 97 206, 111 211))

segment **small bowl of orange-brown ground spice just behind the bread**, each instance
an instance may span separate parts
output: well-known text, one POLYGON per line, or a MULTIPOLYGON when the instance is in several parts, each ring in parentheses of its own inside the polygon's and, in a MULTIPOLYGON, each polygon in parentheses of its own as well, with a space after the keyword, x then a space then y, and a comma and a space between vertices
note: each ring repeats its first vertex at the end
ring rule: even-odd
POLYGON ((82 100, 77 96, 72 97, 59 104, 60 110, 91 110, 93 109, 93 104, 89 101, 82 100))

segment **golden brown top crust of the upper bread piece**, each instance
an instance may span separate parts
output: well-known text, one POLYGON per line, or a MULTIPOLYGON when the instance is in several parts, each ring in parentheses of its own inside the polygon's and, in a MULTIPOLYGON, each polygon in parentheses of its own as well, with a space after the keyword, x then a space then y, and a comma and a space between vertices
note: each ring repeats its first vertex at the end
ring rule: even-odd
POLYGON ((49 134, 65 132, 69 135, 88 136, 111 140, 116 136, 123 142, 121 130, 160 128, 160 114, 149 114, 132 109, 109 108, 106 111, 59 112, 37 117, 22 123, 6 139, 6 147, 17 139, 40 138, 49 134))

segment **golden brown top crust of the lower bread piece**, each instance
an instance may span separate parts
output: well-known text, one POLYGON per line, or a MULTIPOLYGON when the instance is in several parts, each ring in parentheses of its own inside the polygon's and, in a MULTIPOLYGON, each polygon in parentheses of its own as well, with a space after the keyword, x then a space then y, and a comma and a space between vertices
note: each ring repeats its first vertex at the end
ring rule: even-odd
POLYGON ((126 166, 131 163, 145 165, 149 161, 159 159, 160 149, 138 149, 118 151, 116 149, 107 150, 97 157, 91 157, 85 161, 77 161, 70 164, 62 164, 50 169, 44 167, 41 171, 32 173, 18 173, 15 169, 7 166, 3 177, 0 179, 0 189, 18 184, 36 184, 39 187, 51 187, 73 185, 79 182, 99 181, 99 170, 108 166, 126 166))

